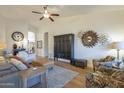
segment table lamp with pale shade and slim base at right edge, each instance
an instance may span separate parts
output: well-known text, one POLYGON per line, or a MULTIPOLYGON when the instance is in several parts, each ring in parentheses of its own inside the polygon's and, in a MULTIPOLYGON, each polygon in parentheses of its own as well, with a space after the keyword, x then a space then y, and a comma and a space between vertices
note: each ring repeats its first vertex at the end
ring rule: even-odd
POLYGON ((124 50, 124 42, 112 42, 110 44, 111 49, 116 49, 117 50, 117 60, 119 60, 119 51, 124 50))

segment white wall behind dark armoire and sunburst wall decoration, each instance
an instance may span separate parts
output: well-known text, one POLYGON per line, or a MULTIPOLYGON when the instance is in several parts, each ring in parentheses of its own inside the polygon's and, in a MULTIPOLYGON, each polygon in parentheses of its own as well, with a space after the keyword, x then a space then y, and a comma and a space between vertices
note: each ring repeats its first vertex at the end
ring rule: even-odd
POLYGON ((43 32, 49 33, 49 56, 54 55, 53 36, 74 33, 74 57, 87 59, 89 61, 88 65, 92 66, 91 60, 93 58, 116 55, 116 51, 109 51, 105 49, 105 46, 100 45, 96 45, 93 48, 86 48, 77 37, 78 32, 80 30, 94 30, 97 33, 108 34, 112 41, 124 41, 124 11, 99 12, 85 16, 61 18, 43 28, 43 32))

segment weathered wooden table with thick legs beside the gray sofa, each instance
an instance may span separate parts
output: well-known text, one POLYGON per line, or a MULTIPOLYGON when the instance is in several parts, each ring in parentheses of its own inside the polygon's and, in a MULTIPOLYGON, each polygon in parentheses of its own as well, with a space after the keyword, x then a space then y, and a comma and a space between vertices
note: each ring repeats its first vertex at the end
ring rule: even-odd
POLYGON ((37 67, 37 68, 29 68, 24 71, 20 71, 20 76, 22 78, 22 87, 28 87, 28 79, 35 78, 37 76, 41 77, 41 87, 47 88, 47 80, 46 80, 46 72, 47 69, 45 67, 37 67))

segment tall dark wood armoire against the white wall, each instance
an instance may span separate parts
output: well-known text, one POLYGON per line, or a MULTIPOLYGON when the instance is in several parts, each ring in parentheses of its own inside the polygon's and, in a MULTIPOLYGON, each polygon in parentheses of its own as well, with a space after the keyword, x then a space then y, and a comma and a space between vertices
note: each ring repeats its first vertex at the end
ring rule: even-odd
POLYGON ((54 60, 58 58, 74 59, 74 34, 54 36, 54 60))

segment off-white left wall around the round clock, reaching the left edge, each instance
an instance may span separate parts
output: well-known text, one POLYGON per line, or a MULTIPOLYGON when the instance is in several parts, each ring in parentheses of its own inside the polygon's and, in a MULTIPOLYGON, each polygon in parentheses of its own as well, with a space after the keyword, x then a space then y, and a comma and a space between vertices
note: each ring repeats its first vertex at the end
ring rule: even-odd
POLYGON ((4 18, 0 15, 0 40, 5 42, 7 45, 7 48, 12 48, 12 45, 14 43, 17 43, 18 45, 24 44, 24 47, 27 48, 27 36, 28 36, 28 31, 35 32, 37 33, 37 28, 29 24, 25 20, 12 20, 12 19, 7 19, 4 18), (24 34, 24 40, 20 43, 15 42, 11 35, 13 32, 19 31, 24 34))

